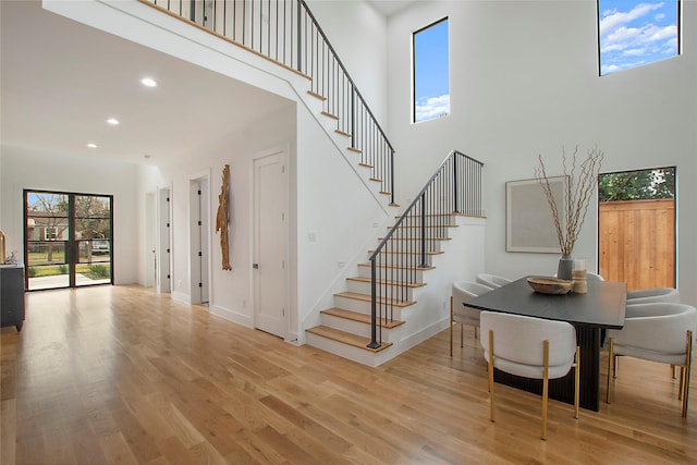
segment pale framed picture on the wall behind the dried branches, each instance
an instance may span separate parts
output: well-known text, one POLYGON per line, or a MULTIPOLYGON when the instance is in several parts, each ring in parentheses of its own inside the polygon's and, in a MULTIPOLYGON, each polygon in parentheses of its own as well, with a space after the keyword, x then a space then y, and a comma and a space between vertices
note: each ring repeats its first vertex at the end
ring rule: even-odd
MULTIPOLYGON (((563 231, 566 176, 548 180, 563 231)), ((561 253, 552 209, 538 180, 505 183, 505 249, 561 253)))

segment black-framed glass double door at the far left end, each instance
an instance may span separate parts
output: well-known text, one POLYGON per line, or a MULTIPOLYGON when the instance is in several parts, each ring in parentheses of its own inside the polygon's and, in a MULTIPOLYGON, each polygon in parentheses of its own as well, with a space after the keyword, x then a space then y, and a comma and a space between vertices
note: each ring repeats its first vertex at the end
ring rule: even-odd
POLYGON ((112 196, 24 192, 26 290, 113 283, 112 196))

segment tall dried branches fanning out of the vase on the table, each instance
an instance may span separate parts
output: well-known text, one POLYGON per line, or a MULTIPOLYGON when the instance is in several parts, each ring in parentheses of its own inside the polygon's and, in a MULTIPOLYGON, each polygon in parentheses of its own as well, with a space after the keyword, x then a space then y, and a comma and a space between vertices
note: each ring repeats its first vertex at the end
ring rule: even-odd
POLYGON ((542 185, 545 196, 552 210, 562 255, 571 255, 574 249, 598 182, 598 173, 604 156, 602 150, 596 147, 589 149, 586 159, 580 164, 577 164, 577 154, 578 146, 574 148, 571 156, 567 156, 566 149, 562 147, 562 166, 566 182, 564 184, 564 205, 561 206, 561 211, 549 185, 547 169, 541 155, 538 156, 538 166, 535 168, 535 178, 542 185))

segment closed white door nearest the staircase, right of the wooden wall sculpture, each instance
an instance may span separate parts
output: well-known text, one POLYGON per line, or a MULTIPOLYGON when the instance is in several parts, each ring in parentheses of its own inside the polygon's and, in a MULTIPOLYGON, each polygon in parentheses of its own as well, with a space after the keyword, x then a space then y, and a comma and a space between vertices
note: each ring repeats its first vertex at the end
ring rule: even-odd
POLYGON ((255 327, 285 336, 288 305, 288 180, 285 154, 254 160, 255 327))

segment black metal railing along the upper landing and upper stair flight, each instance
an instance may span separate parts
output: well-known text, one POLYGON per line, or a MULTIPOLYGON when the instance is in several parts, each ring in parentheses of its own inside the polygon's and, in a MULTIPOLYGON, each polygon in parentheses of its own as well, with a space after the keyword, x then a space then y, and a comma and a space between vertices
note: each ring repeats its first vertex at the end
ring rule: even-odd
POLYGON ((394 149, 304 0, 138 0, 311 78, 310 91, 351 138, 394 204, 394 149))

